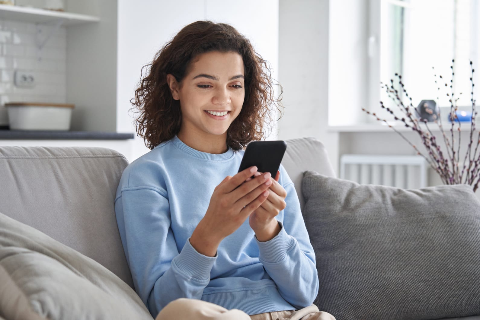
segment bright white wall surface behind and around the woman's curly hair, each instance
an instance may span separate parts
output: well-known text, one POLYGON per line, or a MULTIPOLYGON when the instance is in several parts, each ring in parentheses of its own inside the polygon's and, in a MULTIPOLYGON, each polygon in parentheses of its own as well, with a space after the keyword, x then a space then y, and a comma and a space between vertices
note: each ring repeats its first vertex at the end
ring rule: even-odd
MULTIPOLYGON (((221 0, 118 1, 117 132, 134 132, 128 110, 140 72, 155 53, 186 24, 211 19, 233 24, 256 44, 257 51, 278 66, 278 0, 241 3, 221 0), (255 8, 255 10, 252 10, 255 8)), ((275 75, 275 73, 274 73, 275 75)), ((149 151, 136 137, 132 158, 149 151)))

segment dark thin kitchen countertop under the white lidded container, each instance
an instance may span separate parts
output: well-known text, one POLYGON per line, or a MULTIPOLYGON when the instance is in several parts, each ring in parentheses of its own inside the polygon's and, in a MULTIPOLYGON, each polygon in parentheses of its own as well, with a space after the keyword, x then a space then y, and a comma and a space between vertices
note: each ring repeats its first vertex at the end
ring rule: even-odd
POLYGON ((133 133, 103 131, 0 130, 0 140, 127 140, 133 133))

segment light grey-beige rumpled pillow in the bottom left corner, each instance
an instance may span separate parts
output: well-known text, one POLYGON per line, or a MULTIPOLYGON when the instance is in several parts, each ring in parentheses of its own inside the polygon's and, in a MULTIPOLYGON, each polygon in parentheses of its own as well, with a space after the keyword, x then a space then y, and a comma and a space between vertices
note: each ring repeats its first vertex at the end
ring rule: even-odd
POLYGON ((133 289, 108 269, 1 213, 0 317, 152 320, 133 289))

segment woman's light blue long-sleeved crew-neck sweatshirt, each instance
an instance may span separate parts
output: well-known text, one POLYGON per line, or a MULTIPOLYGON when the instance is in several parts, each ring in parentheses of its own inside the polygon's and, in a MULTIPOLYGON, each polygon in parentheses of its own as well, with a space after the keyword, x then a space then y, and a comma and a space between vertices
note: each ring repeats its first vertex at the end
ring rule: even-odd
POLYGON ((282 228, 260 242, 248 219, 215 257, 190 244, 215 187, 238 172, 244 151, 197 151, 178 137, 133 161, 115 197, 120 237, 135 289, 153 317, 180 297, 201 299, 249 315, 304 308, 318 292, 315 255, 294 185, 283 167, 287 207, 282 228))

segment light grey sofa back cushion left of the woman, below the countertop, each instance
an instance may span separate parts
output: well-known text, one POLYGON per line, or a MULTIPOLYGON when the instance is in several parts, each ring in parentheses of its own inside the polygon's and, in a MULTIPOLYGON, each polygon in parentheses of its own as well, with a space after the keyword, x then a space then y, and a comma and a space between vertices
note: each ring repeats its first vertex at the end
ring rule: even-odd
POLYGON ((107 148, 0 146, 0 212, 98 261, 133 287, 113 204, 127 165, 107 148))

